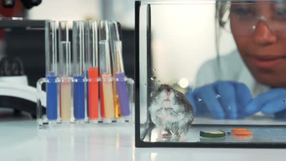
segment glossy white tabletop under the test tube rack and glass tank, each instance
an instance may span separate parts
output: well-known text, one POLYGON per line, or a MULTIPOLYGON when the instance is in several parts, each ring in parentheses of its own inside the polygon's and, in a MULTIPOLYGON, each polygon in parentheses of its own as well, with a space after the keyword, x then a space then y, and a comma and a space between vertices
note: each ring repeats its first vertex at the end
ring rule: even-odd
POLYGON ((133 126, 39 130, 35 120, 0 122, 0 161, 272 161, 286 149, 135 148, 133 126))

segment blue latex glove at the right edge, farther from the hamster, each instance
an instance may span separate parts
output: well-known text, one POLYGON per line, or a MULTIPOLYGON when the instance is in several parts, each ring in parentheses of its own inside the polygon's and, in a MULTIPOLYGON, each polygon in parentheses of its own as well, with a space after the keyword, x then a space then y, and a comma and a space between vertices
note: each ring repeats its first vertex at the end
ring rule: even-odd
POLYGON ((245 110, 246 115, 261 111, 264 114, 275 114, 278 118, 286 118, 286 89, 276 88, 254 98, 245 110))

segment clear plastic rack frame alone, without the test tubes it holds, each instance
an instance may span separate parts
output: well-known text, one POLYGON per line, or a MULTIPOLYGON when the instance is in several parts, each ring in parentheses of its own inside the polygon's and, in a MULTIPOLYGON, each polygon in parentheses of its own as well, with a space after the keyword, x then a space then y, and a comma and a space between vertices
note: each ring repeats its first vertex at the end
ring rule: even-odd
MULTIPOLYGON (((120 80, 120 79, 84 79, 83 83, 85 85, 85 96, 84 97, 84 107, 81 107, 84 110, 84 118, 83 119, 77 119, 75 117, 75 109, 74 109, 74 95, 73 92, 70 92, 70 99, 71 99, 71 106, 70 106, 70 113, 66 113, 69 116, 66 117, 65 119, 63 119, 63 112, 61 109, 61 100, 60 99, 60 95, 61 95, 61 86, 62 85, 70 85, 70 91, 74 91, 74 86, 75 83, 78 82, 79 80, 74 79, 74 78, 70 78, 69 80, 67 79, 61 79, 61 78, 57 78, 55 81, 49 81, 46 78, 41 78, 37 81, 37 92, 38 92, 38 97, 37 97, 37 122, 38 122, 38 126, 40 129, 42 129, 43 127, 45 128, 46 126, 55 126, 55 125, 66 125, 66 124, 106 124, 106 123, 129 123, 129 124, 133 124, 134 123, 134 114, 132 114, 134 112, 134 81, 131 78, 125 78, 124 80, 120 80), (94 117, 93 119, 91 119, 89 117, 90 113, 89 113, 89 108, 88 108, 88 97, 86 96, 88 88, 87 85, 89 83, 111 83, 111 82, 119 82, 119 81, 124 81, 127 84, 127 93, 128 93, 128 98, 129 98, 129 110, 130 110, 130 114, 127 116, 122 116, 122 115, 114 115, 112 117, 106 117, 105 115, 103 115, 103 111, 104 111, 104 107, 102 106, 102 104, 100 104, 100 101, 98 101, 98 108, 95 109, 97 116, 94 117), (41 96, 42 95, 42 86, 46 84, 47 85, 55 85, 57 88, 57 107, 52 107, 57 109, 57 117, 56 119, 48 119, 47 115, 42 114, 43 110, 46 109, 46 99, 44 99, 45 97, 41 96)), ((113 107, 115 110, 115 107, 113 107)), ((48 111, 48 110, 46 110, 48 111)))

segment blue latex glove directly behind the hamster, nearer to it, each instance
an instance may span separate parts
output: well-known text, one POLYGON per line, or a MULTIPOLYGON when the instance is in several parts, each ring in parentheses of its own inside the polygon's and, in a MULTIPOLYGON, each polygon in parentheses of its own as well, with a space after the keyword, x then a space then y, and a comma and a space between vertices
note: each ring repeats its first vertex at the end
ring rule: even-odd
POLYGON ((186 93, 194 108, 195 116, 216 119, 237 119, 244 117, 244 110, 252 95, 247 86, 235 81, 217 81, 186 93))

